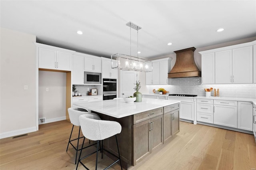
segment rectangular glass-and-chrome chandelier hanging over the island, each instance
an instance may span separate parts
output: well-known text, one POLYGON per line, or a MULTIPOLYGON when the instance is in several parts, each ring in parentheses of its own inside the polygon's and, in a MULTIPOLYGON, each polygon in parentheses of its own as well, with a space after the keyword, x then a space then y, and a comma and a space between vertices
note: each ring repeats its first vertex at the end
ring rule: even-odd
POLYGON ((138 57, 140 51, 138 50, 138 30, 141 28, 132 22, 128 22, 126 26, 130 27, 130 55, 116 53, 111 55, 111 67, 113 69, 124 69, 132 71, 151 72, 152 61, 142 59, 138 57), (131 40, 131 28, 137 30, 137 57, 132 56, 132 40, 131 40))

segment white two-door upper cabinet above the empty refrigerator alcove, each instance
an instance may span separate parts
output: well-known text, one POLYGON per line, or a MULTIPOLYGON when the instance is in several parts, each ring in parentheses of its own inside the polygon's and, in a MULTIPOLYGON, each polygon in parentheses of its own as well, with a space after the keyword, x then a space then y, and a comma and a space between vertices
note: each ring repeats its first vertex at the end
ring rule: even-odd
POLYGON ((72 53, 74 51, 36 43, 38 47, 38 67, 71 71, 72 53))

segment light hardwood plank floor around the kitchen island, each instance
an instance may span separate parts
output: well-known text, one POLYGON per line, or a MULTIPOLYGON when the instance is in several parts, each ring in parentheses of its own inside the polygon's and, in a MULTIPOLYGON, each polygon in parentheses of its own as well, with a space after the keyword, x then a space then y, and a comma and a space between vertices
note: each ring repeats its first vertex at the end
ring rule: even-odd
MULTIPOLYGON (((37 132, 19 138, 0 139, 1 170, 74 170, 75 151, 66 146, 72 124, 59 121, 39 125, 37 132)), ((74 129, 77 135, 78 128, 74 129)), ((88 143, 88 140, 86 140, 88 143)), ((83 154, 90 153, 83 150, 83 154)), ((102 169, 112 162, 107 156, 98 159, 102 169)), ((84 160, 94 169, 95 156, 84 160)), ((253 135, 180 122, 180 132, 164 148, 140 162, 138 170, 255 170, 256 143, 253 135)), ((81 164, 78 169, 84 169, 81 164)), ((119 170, 115 164, 110 169, 119 170)))

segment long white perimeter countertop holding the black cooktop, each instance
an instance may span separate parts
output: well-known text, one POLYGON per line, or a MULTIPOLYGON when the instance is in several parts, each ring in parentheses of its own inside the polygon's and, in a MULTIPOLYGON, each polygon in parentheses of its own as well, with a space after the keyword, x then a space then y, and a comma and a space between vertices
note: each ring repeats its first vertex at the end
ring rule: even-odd
POLYGON ((194 98, 194 99, 214 99, 214 100, 231 100, 231 101, 248 101, 253 102, 256 105, 256 99, 248 99, 248 98, 236 98, 236 97, 205 97, 205 96, 197 96, 197 97, 182 97, 182 96, 169 96, 168 95, 159 95, 159 94, 143 94, 143 95, 151 95, 151 96, 166 96, 166 97, 181 97, 181 98, 194 98))

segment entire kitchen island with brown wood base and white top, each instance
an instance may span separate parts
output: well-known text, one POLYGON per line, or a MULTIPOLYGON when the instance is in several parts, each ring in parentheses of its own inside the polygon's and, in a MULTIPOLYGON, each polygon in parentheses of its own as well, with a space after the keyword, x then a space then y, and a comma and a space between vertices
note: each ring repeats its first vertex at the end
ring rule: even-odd
MULTIPOLYGON (((122 132, 118 134, 118 143, 122 166, 129 169, 162 148, 179 132, 179 103, 178 100, 143 98, 142 102, 134 103, 117 99, 81 102, 74 106, 98 113, 102 120, 120 123, 122 132)), ((104 140, 104 148, 118 154, 113 137, 104 140)))

